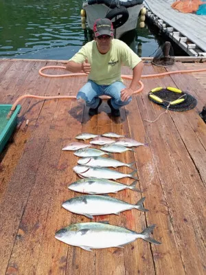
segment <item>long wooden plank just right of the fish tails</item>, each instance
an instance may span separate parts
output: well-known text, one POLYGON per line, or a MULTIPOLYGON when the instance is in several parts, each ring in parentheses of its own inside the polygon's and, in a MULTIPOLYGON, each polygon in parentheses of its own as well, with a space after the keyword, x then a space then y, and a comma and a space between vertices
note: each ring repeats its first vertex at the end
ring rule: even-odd
MULTIPOLYGON (((147 67, 145 66, 145 68, 147 67)), ((146 72, 147 69, 144 69, 144 74, 146 72)), ((144 190, 142 195, 146 197, 144 205, 149 210, 149 212, 146 212, 146 225, 154 223, 157 225, 153 236, 162 242, 161 245, 150 245, 150 253, 152 254, 154 263, 148 264, 148 269, 152 265, 155 265, 153 267, 155 274, 162 274, 162 270, 167 274, 185 274, 181 254, 174 235, 174 228, 170 221, 168 203, 162 190, 161 181, 150 148, 153 144, 153 139, 148 135, 146 122, 143 121, 147 116, 147 109, 144 103, 146 100, 146 91, 151 89, 147 80, 144 80, 144 85, 146 85, 144 91, 137 94, 137 96, 133 96, 132 102, 126 106, 126 112, 130 137, 149 145, 148 147, 139 146, 135 148, 137 153, 134 154, 135 161, 137 161, 139 184, 141 190, 144 190), (174 265, 174 263, 176 264, 174 265)), ((143 250, 144 256, 141 258, 144 259, 147 254, 143 250)), ((140 274, 151 274, 150 270, 146 272, 144 268, 146 267, 143 261, 141 268, 139 268, 140 274)))

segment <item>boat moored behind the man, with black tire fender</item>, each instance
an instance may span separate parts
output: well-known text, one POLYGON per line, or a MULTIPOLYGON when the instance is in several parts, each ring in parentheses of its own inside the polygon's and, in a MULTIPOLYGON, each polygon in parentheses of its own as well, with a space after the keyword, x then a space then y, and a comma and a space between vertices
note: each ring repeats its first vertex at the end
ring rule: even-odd
POLYGON ((96 19, 108 18, 113 22, 114 36, 120 39, 123 34, 137 28, 139 12, 144 0, 87 0, 82 4, 87 15, 89 30, 93 30, 96 19))

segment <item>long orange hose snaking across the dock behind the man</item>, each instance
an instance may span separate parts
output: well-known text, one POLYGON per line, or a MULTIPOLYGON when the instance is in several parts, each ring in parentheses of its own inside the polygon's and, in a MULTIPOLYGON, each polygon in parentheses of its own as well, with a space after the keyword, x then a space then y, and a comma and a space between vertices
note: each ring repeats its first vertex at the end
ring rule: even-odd
MULTIPOLYGON (((41 69, 39 69, 38 73, 41 76, 45 76, 45 77, 52 77, 52 78, 58 78, 58 77, 67 77, 67 76, 87 76, 87 74, 84 73, 76 73, 76 74, 60 74, 60 75, 52 75, 52 74, 44 74, 42 71, 44 69, 54 69, 54 68, 59 68, 59 69, 66 69, 65 66, 45 66, 42 67, 41 69)), ((166 76, 168 74, 186 74, 186 73, 192 73, 192 72, 204 72, 206 71, 205 69, 189 69, 189 70, 181 70, 181 71, 173 71, 173 72, 165 72, 165 73, 161 73, 161 74, 146 74, 144 76, 141 76, 141 78, 152 78, 152 77, 159 77, 159 76, 166 76)), ((133 76, 129 76, 126 74, 122 75, 122 78, 126 78, 126 79, 133 79, 133 76)), ((137 94, 140 91, 142 91, 144 89, 144 84, 139 80, 139 84, 141 85, 141 87, 137 90, 134 91, 133 94, 137 94)), ((12 111, 14 111, 14 109, 16 108, 16 105, 19 103, 19 101, 23 100, 24 98, 38 98, 38 99, 62 99, 62 98, 76 98, 76 96, 34 96, 34 95, 24 95, 24 96, 20 96, 19 98, 17 98, 17 100, 14 102, 14 104, 12 105, 11 111, 10 113, 12 113, 12 111)), ((102 98, 108 98, 108 97, 102 97, 102 98)), ((10 115, 10 114, 9 114, 10 115)))

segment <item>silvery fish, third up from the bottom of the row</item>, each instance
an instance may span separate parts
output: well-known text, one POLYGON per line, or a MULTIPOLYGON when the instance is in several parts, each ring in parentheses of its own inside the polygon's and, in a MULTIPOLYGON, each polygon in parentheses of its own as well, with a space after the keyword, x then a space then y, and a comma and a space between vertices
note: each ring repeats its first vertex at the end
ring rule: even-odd
POLYGON ((80 179, 73 182, 68 186, 70 190, 87 193, 87 194, 106 194, 106 193, 117 193, 124 189, 134 190, 141 192, 136 188, 137 180, 133 181, 132 184, 120 184, 117 181, 111 181, 109 179, 96 179, 90 177, 89 179, 80 179))

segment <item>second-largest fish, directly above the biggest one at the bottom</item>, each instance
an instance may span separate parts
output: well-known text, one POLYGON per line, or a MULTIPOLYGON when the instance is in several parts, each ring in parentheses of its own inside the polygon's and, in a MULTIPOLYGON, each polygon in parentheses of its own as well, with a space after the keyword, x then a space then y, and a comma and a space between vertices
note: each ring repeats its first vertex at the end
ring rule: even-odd
POLYGON ((84 195, 68 199, 62 203, 62 207, 70 212, 82 214, 89 219, 93 219, 93 216, 120 214, 120 212, 131 209, 147 212, 148 209, 145 209, 143 206, 144 200, 145 197, 139 199, 137 204, 130 204, 108 195, 84 195))

